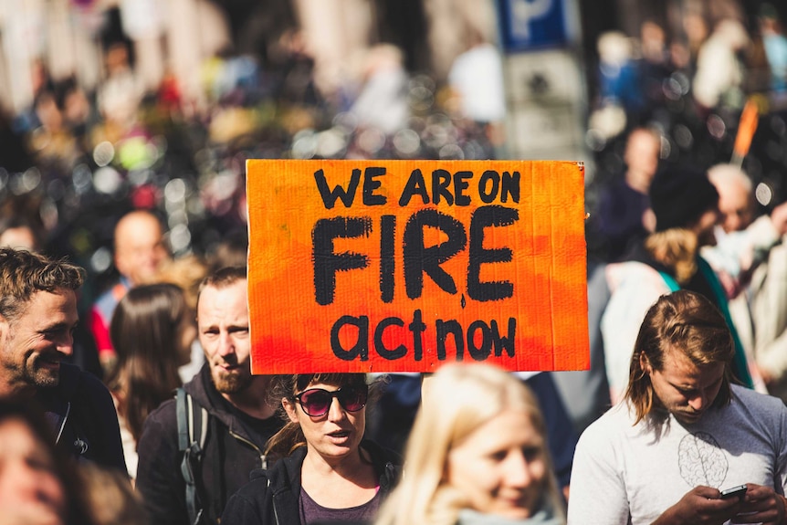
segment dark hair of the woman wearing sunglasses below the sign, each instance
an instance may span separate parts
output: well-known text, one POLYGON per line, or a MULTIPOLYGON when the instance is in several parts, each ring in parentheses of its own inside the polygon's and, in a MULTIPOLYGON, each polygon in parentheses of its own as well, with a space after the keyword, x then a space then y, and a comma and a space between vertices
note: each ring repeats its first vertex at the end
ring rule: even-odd
MULTIPOLYGON (((289 420, 281 400, 286 398, 289 403, 298 403, 295 396, 310 384, 325 383, 336 385, 339 388, 349 385, 366 385, 365 373, 296 373, 274 376, 269 390, 271 404, 278 405, 278 415, 285 420, 285 425, 274 436, 268 439, 265 453, 272 457, 288 457, 299 446, 306 446, 306 437, 298 423, 289 420)), ((366 403, 373 402, 376 388, 371 388, 366 403)))

